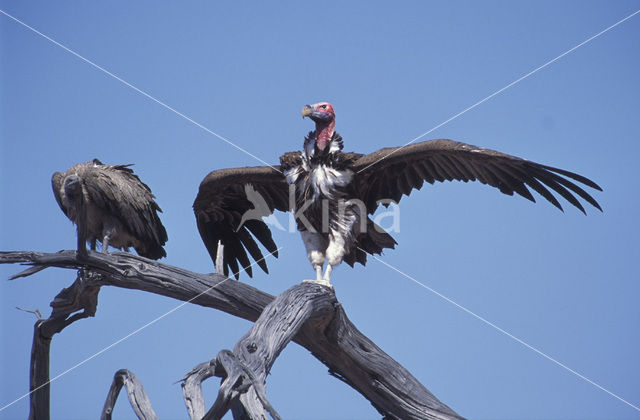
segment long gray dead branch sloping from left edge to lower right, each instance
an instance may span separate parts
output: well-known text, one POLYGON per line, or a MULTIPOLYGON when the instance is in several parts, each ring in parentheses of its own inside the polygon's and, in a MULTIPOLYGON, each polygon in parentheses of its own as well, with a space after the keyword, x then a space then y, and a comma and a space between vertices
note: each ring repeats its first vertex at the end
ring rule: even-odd
MULTIPOLYGON (((100 274, 94 278, 95 286, 145 290, 216 308, 250 321, 256 321, 274 299, 221 275, 196 274, 133 254, 89 252, 88 258, 78 260, 75 251, 56 254, 0 252, 0 263, 21 262, 63 268, 83 266, 100 274)), ((308 322, 299 329, 294 341, 327 365, 332 375, 365 396, 386 418, 460 418, 358 331, 337 301, 336 305, 334 316, 326 326, 308 322)))

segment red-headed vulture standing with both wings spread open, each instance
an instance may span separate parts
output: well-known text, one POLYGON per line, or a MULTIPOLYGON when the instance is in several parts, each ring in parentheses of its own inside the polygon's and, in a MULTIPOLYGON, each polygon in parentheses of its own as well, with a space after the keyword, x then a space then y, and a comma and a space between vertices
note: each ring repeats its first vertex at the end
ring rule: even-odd
POLYGON ((268 272, 256 239, 277 256, 266 223, 243 215, 292 210, 316 281, 330 285, 331 271, 342 261, 364 265, 367 254, 394 247, 395 240, 369 215, 381 203, 398 202, 414 188, 420 189, 424 181, 477 180, 535 202, 531 188, 562 210, 551 192, 555 191, 583 213, 576 196, 602 211, 578 184, 602 189, 573 172, 452 140, 424 141, 368 155, 345 153, 342 137, 334 131, 331 104, 305 105, 302 116, 316 124, 305 138, 303 151, 284 154, 275 167, 213 171, 200 184, 193 204, 198 230, 214 261, 218 243, 224 246, 227 275, 229 268, 236 278, 240 268, 252 275, 247 252, 268 272))

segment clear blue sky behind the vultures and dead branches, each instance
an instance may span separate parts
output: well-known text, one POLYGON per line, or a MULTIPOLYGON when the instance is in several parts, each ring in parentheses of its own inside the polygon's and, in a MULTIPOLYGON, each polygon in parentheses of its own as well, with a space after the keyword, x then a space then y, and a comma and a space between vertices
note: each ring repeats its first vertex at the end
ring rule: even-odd
MULTIPOLYGON (((400 145, 640 9, 638 1, 15 2, 2 10, 268 162, 312 129, 301 106, 334 104, 346 149, 400 145)), ((97 157, 135 163, 169 233, 163 260, 211 272, 191 204, 211 170, 258 165, 4 15, 0 249, 75 247, 54 171, 97 157)), ((586 175, 604 213, 565 213, 480 184, 400 203, 388 264, 640 405, 640 15, 425 139, 451 138, 586 175)), ((563 202, 563 204, 566 202, 563 202)), ((283 215, 280 220, 285 221, 283 215)), ((278 294, 313 276, 298 234, 270 275, 278 294)), ((8 282, 0 267, 0 406, 28 391, 34 317, 75 278, 8 282)), ((640 412, 375 260, 333 276, 353 322, 438 398, 478 419, 640 419, 640 412)), ((97 316, 55 337, 55 376, 180 302, 106 287, 97 316)), ((250 323, 186 306, 52 384, 52 418, 95 418, 113 373, 132 370, 163 419, 186 418, 179 385, 250 323)), ((205 386, 209 403, 218 381, 205 386)), ((292 344, 267 393, 293 419, 374 419, 356 391, 292 344)), ((25 418, 28 400, 0 412, 25 418)), ((116 418, 134 414, 121 396, 116 418)))

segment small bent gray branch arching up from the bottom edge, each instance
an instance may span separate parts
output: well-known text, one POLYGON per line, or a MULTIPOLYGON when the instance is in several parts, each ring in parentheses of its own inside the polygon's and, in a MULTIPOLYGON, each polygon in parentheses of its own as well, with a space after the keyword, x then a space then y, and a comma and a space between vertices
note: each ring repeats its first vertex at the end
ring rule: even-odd
POLYGON ((127 369, 120 369, 115 373, 115 375, 113 375, 113 382, 109 387, 109 392, 107 393, 107 399, 104 402, 104 407, 102 408, 100 420, 111 420, 113 407, 116 405, 118 395, 120 394, 120 390, 123 385, 127 390, 129 403, 131 403, 131 408, 133 408, 136 416, 140 420, 158 420, 158 416, 156 416, 155 411, 153 411, 153 408, 151 407, 151 402, 147 397, 147 393, 144 392, 144 387, 136 375, 127 369))

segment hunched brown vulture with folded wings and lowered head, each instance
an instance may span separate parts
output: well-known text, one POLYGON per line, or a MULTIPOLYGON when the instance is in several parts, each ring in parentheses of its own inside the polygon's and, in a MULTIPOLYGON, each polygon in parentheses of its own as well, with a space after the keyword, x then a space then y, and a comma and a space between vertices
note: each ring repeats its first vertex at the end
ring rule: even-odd
POLYGON ((131 165, 105 165, 98 159, 79 163, 51 178, 53 194, 67 217, 78 227, 78 253, 87 255, 86 242, 102 252, 109 245, 157 260, 166 257, 167 242, 151 189, 140 181, 131 165))

